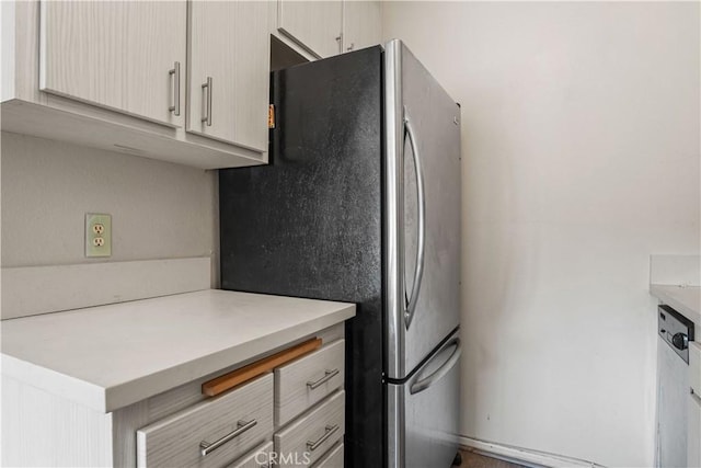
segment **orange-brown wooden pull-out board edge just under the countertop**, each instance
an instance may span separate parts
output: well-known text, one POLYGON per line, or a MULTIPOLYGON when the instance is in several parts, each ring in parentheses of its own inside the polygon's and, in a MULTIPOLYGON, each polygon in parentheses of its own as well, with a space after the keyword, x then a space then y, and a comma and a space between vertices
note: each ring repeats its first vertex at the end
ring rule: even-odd
POLYGON ((256 361, 253 364, 249 364, 245 367, 230 372, 215 379, 207 380, 202 385, 202 392, 208 397, 216 397, 229 389, 232 389, 237 385, 241 385, 244 381, 251 380, 260 375, 273 370, 275 367, 279 367, 283 364, 296 359, 302 354, 307 354, 321 346, 321 339, 313 338, 304 341, 296 346, 288 347, 287 350, 275 353, 272 356, 265 357, 261 361, 256 361))

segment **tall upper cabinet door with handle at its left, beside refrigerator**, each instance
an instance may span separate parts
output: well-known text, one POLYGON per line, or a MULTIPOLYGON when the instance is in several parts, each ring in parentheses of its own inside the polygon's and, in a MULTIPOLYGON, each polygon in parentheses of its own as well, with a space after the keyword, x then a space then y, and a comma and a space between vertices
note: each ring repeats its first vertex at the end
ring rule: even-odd
POLYGON ((189 3, 187 132, 267 151, 271 4, 189 3))

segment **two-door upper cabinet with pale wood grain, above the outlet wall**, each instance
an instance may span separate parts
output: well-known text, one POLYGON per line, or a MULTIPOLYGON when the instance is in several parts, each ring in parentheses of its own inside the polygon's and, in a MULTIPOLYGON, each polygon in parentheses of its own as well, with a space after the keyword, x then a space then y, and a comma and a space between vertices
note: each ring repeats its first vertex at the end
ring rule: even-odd
POLYGON ((267 162, 276 2, 1 3, 2 130, 204 169, 267 162))

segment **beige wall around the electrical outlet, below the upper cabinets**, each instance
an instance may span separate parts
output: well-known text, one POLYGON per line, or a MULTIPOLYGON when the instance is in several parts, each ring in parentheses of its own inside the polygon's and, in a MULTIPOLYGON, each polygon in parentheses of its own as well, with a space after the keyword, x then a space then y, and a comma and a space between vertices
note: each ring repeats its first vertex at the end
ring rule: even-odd
POLYGON ((85 213, 112 215, 107 261, 212 255, 216 171, 2 133, 2 266, 84 256, 85 213))

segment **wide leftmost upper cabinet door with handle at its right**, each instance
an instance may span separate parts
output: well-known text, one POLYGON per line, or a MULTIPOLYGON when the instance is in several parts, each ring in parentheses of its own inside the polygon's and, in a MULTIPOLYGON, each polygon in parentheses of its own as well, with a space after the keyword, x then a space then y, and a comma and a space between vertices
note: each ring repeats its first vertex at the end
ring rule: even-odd
POLYGON ((43 1, 39 18, 39 89, 182 126, 184 0, 43 1))

